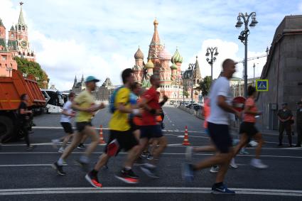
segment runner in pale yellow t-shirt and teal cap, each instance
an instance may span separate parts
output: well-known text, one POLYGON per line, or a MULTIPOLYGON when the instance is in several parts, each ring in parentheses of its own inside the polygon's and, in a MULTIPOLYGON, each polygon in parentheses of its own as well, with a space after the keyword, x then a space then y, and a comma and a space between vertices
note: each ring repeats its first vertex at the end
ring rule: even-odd
POLYGON ((82 91, 77 97, 75 98, 74 102, 72 102, 72 109, 76 109, 80 112, 77 113, 75 118, 77 132, 72 138, 72 142, 70 146, 65 148, 62 156, 59 160, 53 163, 53 168, 57 170, 59 175, 65 175, 66 173, 63 171, 63 162, 66 158, 70 155, 70 153, 77 147, 78 143, 82 140, 82 136, 85 134, 91 138, 90 146, 87 147, 85 154, 80 156, 77 160, 78 163, 82 166, 84 170, 87 169, 87 165, 89 163, 89 157, 92 151, 95 150, 97 144, 99 143, 99 136, 97 132, 92 127, 91 119, 94 112, 97 112, 99 109, 104 108, 104 104, 95 104, 95 97, 92 95, 92 91, 95 90, 97 87, 96 83, 99 82, 95 77, 89 76, 85 80, 86 89, 82 91))

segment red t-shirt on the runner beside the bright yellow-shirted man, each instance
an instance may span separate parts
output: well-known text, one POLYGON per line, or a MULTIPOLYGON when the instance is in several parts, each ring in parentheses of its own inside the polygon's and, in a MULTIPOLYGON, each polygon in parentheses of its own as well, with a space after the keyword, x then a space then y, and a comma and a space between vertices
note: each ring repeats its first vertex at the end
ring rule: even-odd
MULTIPOLYGON (((158 103, 159 93, 156 92, 154 87, 148 89, 143 94, 143 97, 147 100, 147 104, 151 109, 161 109, 161 105, 158 103)), ((156 125, 156 114, 151 114, 150 112, 144 110, 142 117, 142 123, 144 126, 156 125)))

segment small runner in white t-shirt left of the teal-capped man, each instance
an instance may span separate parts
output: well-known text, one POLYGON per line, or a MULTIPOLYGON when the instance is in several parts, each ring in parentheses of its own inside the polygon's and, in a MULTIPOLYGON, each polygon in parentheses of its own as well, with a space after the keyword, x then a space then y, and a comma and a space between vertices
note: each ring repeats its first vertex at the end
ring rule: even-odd
POLYGON ((65 136, 63 138, 53 139, 52 142, 58 144, 60 141, 63 141, 62 146, 59 148, 58 153, 63 153, 68 141, 73 136, 73 129, 71 124, 71 119, 75 117, 75 111, 72 109, 72 102, 75 99, 75 93, 70 92, 68 94, 68 101, 63 105, 63 111, 61 114, 60 124, 62 125, 65 136))

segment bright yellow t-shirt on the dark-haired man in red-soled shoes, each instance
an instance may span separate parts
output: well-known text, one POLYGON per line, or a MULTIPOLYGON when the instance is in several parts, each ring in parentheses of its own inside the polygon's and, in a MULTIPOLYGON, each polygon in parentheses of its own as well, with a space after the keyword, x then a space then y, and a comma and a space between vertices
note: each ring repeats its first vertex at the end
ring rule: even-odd
MULTIPOLYGON (((130 89, 126 87, 119 89, 114 99, 114 107, 117 108, 118 104, 122 103, 126 105, 126 108, 130 108, 129 97, 130 89)), ((116 109, 109 121, 109 129, 114 131, 128 131, 130 129, 128 114, 119 112, 119 110, 116 109)))

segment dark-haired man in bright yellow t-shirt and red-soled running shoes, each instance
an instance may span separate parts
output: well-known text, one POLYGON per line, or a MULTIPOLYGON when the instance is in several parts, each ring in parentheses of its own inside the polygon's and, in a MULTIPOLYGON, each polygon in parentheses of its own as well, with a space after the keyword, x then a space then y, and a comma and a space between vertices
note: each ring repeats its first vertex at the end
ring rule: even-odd
POLYGON ((128 151, 124 168, 115 175, 116 178, 125 183, 138 183, 139 176, 133 170, 132 165, 139 155, 139 142, 136 140, 131 127, 129 125, 128 114, 139 114, 139 109, 131 109, 130 106, 130 88, 134 82, 133 70, 127 68, 122 72, 123 87, 116 89, 114 97, 114 113, 109 121, 109 141, 104 149, 104 153, 99 157, 95 168, 85 176, 86 180, 94 187, 102 187, 97 178, 97 173, 100 168, 107 164, 107 161, 112 156, 117 156, 120 150, 128 151))

